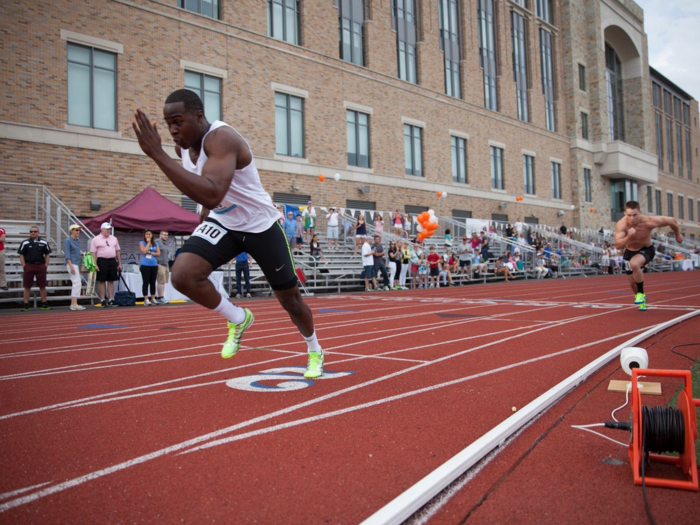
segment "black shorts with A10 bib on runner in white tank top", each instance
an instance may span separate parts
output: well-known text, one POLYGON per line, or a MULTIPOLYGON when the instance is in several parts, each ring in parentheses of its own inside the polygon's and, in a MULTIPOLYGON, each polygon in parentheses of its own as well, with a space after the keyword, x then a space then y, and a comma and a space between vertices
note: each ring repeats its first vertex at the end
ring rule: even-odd
POLYGON ((255 259, 273 290, 289 290, 297 285, 287 236, 278 222, 264 232, 248 233, 228 230, 207 217, 192 232, 180 253, 194 253, 216 270, 242 252, 255 259))

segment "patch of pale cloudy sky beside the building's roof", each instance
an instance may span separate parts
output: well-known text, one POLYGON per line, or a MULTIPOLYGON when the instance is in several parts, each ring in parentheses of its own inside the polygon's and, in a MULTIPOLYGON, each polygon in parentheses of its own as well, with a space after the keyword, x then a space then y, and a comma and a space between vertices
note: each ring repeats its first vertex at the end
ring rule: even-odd
POLYGON ((649 65, 700 98, 700 0, 635 0, 644 9, 649 65))

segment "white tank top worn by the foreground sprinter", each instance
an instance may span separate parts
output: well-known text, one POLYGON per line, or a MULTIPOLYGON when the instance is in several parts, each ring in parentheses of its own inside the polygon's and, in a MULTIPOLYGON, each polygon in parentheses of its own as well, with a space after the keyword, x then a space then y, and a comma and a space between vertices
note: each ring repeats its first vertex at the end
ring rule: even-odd
MULTIPOLYGON (((222 126, 228 126, 233 129, 232 126, 225 122, 220 120, 214 121, 209 131, 202 138, 202 147, 197 164, 192 164, 189 150, 180 150, 183 168, 197 175, 202 175, 202 169, 208 159, 207 154, 204 152, 204 141, 209 133, 222 126)), ((236 130, 234 129, 234 131, 236 130)), ((236 133, 238 132, 236 131, 236 133)), ((241 137, 243 138, 242 135, 241 137)), ((248 144, 247 140, 245 140, 245 143, 250 149, 250 144, 248 144)), ((251 150, 251 157, 252 155, 253 152, 251 150)), ((209 212, 209 217, 215 219, 229 230, 248 233, 264 232, 279 219, 279 211, 272 204, 270 195, 262 187, 254 158, 245 168, 236 170, 224 200, 209 212)))

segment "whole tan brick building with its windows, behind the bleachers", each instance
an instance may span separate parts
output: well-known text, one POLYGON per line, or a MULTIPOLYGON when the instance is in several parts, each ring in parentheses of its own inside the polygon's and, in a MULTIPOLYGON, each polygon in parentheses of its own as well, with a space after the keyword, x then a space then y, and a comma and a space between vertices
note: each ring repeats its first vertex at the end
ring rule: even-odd
POLYGON ((249 140, 280 202, 598 228, 653 189, 698 226, 697 101, 649 68, 629 0, 8 0, 0 16, 0 180, 79 215, 179 193, 131 121, 162 122, 187 87, 249 140))

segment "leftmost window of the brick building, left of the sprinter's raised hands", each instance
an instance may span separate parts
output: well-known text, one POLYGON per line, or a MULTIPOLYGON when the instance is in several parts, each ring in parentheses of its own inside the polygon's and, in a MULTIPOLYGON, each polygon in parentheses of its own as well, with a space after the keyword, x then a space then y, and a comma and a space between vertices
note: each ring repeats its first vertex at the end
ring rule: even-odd
POLYGON ((117 55, 68 44, 68 124, 117 129, 117 55))

